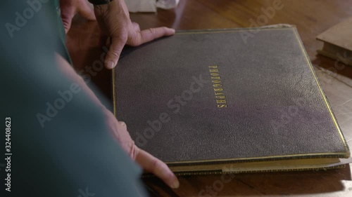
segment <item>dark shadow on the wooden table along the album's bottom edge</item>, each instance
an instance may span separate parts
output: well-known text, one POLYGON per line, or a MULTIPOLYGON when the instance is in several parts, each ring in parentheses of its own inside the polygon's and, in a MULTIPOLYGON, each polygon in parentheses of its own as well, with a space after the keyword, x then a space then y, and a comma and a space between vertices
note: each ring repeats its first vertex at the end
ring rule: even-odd
POLYGON ((317 194, 352 191, 351 170, 265 172, 227 175, 179 177, 180 188, 172 190, 155 177, 144 179, 151 196, 282 196, 290 194, 317 194))

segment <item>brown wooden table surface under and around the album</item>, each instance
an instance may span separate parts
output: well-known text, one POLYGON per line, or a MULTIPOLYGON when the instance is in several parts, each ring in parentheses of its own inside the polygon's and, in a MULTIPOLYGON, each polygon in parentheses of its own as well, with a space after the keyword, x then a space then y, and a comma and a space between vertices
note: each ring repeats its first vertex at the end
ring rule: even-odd
MULTIPOLYGON (((267 20, 261 19, 261 25, 296 25, 341 130, 352 147, 352 67, 335 64, 334 60, 317 55, 316 50, 322 48, 322 43, 315 40, 321 32, 352 16, 352 0, 281 2, 283 7, 268 15, 267 20)), ((265 14, 262 8, 272 7, 273 3, 269 0, 180 0, 175 10, 135 13, 131 18, 139 22, 142 29, 159 26, 175 29, 250 27, 251 21, 257 21, 265 14)), ((75 19, 68 33, 68 48, 77 71, 100 60, 103 50, 99 35, 96 22, 75 19)), ((92 76, 92 81, 111 98, 110 72, 103 69, 92 76)), ((165 188, 157 179, 146 182, 154 190, 153 196, 352 196, 351 167, 320 172, 240 174, 226 184, 219 184, 220 175, 180 177, 180 189, 177 190, 165 188)))

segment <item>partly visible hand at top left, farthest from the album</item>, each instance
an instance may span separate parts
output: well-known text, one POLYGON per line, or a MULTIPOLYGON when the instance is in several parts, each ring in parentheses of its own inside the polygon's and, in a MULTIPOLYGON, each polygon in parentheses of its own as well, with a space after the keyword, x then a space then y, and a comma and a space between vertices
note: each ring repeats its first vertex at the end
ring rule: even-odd
POLYGON ((88 4, 87 0, 60 0, 61 19, 63 20, 66 34, 76 13, 87 18, 87 20, 96 20, 94 11, 88 4))

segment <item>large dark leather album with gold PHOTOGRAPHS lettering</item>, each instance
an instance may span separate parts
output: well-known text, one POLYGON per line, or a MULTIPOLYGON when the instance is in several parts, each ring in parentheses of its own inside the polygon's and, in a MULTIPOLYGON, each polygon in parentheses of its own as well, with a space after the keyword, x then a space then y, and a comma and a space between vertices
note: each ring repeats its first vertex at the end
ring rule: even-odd
POLYGON ((137 146, 179 175, 340 168, 350 154, 293 26, 126 47, 113 100, 137 146))

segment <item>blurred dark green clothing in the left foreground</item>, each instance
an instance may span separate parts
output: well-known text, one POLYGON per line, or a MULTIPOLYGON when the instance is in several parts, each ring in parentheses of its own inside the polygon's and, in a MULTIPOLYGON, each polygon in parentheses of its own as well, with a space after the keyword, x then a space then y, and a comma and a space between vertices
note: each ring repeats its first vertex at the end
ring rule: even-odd
POLYGON ((11 192, 4 185, 8 172, 0 167, 1 193, 146 196, 139 180, 142 170, 108 133, 101 109, 86 93, 73 93, 56 107, 63 100, 59 92, 70 91, 73 84, 54 57, 57 51, 70 61, 58 3, 1 1, 1 141, 5 118, 10 117, 13 154, 11 192), (49 120, 41 125, 37 114, 49 120))

